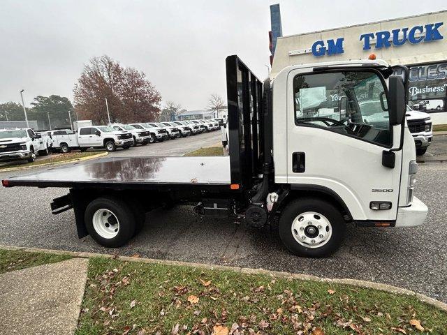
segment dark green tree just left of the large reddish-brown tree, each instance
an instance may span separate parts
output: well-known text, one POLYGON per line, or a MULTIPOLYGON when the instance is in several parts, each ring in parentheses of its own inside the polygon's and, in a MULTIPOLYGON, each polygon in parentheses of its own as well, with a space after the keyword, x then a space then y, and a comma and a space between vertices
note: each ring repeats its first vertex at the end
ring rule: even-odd
POLYGON ((64 96, 36 96, 29 118, 37 121, 45 122, 48 125, 48 117, 50 117, 51 128, 70 127, 70 118, 68 113, 71 114, 71 120, 75 121, 74 108, 71 101, 64 96))

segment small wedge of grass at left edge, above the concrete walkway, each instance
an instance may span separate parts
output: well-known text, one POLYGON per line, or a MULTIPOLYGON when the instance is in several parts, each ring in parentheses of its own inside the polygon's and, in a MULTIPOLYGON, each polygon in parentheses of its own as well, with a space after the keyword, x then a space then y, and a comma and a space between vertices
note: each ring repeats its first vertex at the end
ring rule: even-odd
POLYGON ((68 260, 69 255, 51 255, 49 253, 27 253, 20 250, 1 250, 0 249, 0 274, 8 271, 25 269, 27 267, 36 267, 47 263, 60 262, 68 260))

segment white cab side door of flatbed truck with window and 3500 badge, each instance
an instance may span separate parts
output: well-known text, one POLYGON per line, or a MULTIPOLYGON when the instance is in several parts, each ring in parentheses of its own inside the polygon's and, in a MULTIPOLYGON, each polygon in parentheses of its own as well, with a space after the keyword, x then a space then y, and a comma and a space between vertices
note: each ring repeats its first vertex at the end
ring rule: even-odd
POLYGON ((287 181, 341 199, 356 221, 395 220, 402 151, 390 126, 386 80, 374 69, 292 70, 287 77, 287 181), (372 202, 384 203, 372 209, 372 202), (390 206, 390 209, 386 209, 390 206))

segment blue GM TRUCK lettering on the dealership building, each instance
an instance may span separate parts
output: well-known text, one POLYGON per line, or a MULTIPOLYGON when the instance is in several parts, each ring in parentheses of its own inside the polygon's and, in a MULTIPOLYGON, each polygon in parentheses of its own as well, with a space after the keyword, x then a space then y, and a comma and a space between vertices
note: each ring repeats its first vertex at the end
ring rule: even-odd
MULTIPOLYGON (((444 36, 439 32, 444 22, 425 24, 425 26, 415 26, 412 28, 393 29, 391 31, 376 31, 360 35, 360 42, 363 44, 363 50, 371 50, 371 45, 375 43, 375 49, 383 47, 399 47, 406 43, 418 44, 421 42, 432 42, 442 40, 444 36)), ((335 38, 330 40, 317 40, 311 48, 315 57, 321 57, 325 54, 344 53, 344 38, 335 38)))

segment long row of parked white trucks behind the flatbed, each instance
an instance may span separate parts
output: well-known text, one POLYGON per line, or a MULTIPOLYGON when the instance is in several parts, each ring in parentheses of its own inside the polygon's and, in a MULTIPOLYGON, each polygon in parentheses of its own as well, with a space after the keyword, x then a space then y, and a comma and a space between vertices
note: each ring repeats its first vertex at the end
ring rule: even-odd
POLYGON ((52 151, 62 153, 73 149, 86 151, 89 148, 105 148, 115 151, 117 147, 129 149, 138 144, 146 145, 217 131, 223 119, 166 121, 135 124, 108 124, 108 126, 81 126, 77 131, 57 129, 36 132, 31 128, 0 130, 0 161, 27 160, 33 162, 36 155, 46 156, 52 151))

